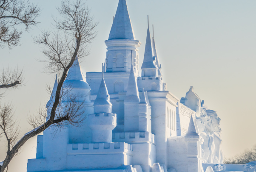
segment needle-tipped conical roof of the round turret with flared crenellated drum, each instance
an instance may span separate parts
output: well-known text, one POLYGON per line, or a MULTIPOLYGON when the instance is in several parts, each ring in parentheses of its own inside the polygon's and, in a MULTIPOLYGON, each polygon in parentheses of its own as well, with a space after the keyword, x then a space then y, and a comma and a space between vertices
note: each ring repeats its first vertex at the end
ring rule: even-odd
POLYGON ((103 64, 102 64, 102 80, 100 83, 100 88, 98 95, 94 102, 94 114, 97 113, 111 113, 112 104, 110 102, 110 96, 108 94, 108 89, 104 80, 103 74, 103 64))

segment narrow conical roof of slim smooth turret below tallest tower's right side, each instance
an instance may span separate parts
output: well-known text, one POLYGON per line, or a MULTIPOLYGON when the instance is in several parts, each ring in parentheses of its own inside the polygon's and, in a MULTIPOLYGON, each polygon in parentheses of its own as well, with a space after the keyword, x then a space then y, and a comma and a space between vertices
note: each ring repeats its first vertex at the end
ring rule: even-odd
POLYGON ((137 86, 137 78, 134 73, 134 65, 131 63, 131 71, 128 80, 125 102, 139 103, 139 90, 137 86))

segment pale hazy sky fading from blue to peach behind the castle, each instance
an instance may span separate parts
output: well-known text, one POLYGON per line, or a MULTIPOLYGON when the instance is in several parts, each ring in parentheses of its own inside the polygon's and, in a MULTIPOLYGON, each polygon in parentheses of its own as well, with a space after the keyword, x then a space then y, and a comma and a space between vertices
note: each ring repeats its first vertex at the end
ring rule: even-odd
MULTIPOLYGON (((57 16, 60 0, 32 0, 43 11, 40 24, 25 33, 22 45, 13 50, 0 49, 3 67, 24 69, 26 86, 9 90, 3 102, 12 102, 22 134, 31 127, 27 116, 34 114, 49 99, 46 84, 54 84, 54 75, 44 73, 38 58, 44 58, 32 36, 51 30, 51 16, 57 16)), ((190 86, 210 109, 222 119, 223 152, 233 156, 256 144, 256 1, 255 0, 127 0, 131 22, 139 47, 141 66, 147 31, 147 15, 154 24, 154 37, 164 81, 179 99, 190 86)), ((118 0, 88 0, 99 21, 98 36, 91 54, 82 62, 85 72, 100 72, 105 60, 104 41, 113 22, 118 0)), ((152 35, 152 29, 151 29, 152 35)), ((0 161, 5 157, 0 147, 0 161)), ((35 158, 36 137, 14 158, 9 172, 26 172, 28 158, 35 158)))

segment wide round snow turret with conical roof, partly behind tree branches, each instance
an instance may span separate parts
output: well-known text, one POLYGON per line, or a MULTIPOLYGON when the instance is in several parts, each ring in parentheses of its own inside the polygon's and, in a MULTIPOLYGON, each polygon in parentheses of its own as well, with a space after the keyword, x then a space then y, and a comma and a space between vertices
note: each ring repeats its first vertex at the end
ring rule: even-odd
POLYGON ((90 143, 91 130, 88 128, 88 114, 94 113, 94 106, 91 103, 91 87, 86 82, 82 73, 79 59, 76 57, 72 67, 68 70, 68 76, 63 83, 63 92, 68 91, 66 99, 63 100, 63 107, 68 104, 71 97, 75 97, 77 103, 81 103, 83 111, 81 118, 84 118, 80 127, 69 126, 69 142, 71 143, 90 143))

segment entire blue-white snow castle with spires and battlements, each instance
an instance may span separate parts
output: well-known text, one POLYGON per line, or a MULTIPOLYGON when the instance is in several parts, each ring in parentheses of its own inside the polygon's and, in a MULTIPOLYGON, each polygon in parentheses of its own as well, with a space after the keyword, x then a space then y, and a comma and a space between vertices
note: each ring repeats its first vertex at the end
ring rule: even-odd
MULTIPOLYGON (((85 101, 84 124, 45 130, 27 172, 204 172, 216 164, 223 169, 216 111, 193 87, 181 100, 167 90, 149 27, 139 74, 141 42, 126 0, 119 0, 105 44, 102 72, 85 78, 76 59, 65 80, 73 83, 78 101, 85 101)), ((49 113, 51 103, 47 108, 49 113)))

